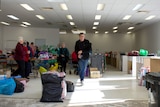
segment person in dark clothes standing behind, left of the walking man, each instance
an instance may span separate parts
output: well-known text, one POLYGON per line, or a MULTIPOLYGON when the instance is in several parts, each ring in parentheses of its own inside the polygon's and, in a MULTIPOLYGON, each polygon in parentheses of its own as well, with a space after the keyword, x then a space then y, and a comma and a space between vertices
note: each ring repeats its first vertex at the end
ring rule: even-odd
POLYGON ((61 48, 59 49, 59 62, 60 62, 60 70, 61 72, 64 71, 66 73, 66 65, 67 65, 67 62, 69 60, 69 51, 68 49, 66 48, 65 46, 65 43, 62 43, 61 44, 61 48))

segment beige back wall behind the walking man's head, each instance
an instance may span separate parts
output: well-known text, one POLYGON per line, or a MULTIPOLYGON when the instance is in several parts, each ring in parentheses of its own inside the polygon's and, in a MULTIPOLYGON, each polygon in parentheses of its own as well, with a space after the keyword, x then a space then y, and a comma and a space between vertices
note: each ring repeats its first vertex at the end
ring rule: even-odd
MULTIPOLYGON (((60 35, 60 41, 66 43, 70 52, 74 50, 78 34, 60 35)), ((119 51, 128 52, 135 49, 135 35, 126 34, 86 34, 86 39, 92 43, 93 51, 99 52, 119 51)))

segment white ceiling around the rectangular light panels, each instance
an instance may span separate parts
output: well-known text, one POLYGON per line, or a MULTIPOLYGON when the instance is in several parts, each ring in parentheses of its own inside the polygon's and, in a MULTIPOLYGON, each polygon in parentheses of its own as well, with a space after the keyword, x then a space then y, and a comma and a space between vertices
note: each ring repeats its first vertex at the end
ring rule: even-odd
MULTIPOLYGON (((86 33, 94 33, 92 29, 95 22, 95 15, 102 15, 97 25, 96 31, 104 33, 113 32, 113 27, 118 26, 119 33, 126 33, 128 27, 135 27, 133 31, 141 29, 149 24, 160 21, 160 0, 59 0, 62 2, 48 2, 47 0, 1 0, 0 22, 10 23, 9 26, 20 26, 23 21, 29 22, 29 27, 60 28, 60 31, 85 30, 86 33), (25 10, 20 4, 30 5, 34 11, 25 10), (67 11, 60 8, 60 3, 65 3, 67 11), (96 10, 98 3, 104 3, 105 8, 102 11, 96 10), (137 11, 132 9, 137 4, 143 4, 143 7, 137 11), (43 10, 42 8, 53 8, 43 10), (13 20, 7 17, 12 14, 19 18, 13 20), (42 15, 44 20, 40 20, 35 15, 42 15), (66 15, 72 15, 73 20, 66 18, 66 15), (129 20, 123 20, 125 15, 132 15, 129 20), (152 20, 145 20, 150 15, 156 15, 152 20), (69 22, 73 21, 74 26, 69 22)), ((5 26, 0 24, 0 26, 5 26)))

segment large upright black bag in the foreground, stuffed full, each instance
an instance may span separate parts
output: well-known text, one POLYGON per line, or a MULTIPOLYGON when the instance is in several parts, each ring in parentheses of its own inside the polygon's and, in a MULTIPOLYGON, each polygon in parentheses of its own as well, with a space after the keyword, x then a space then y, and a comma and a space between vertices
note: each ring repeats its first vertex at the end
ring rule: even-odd
POLYGON ((43 91, 40 102, 63 102, 62 85, 63 78, 58 77, 55 74, 42 74, 41 75, 43 91))

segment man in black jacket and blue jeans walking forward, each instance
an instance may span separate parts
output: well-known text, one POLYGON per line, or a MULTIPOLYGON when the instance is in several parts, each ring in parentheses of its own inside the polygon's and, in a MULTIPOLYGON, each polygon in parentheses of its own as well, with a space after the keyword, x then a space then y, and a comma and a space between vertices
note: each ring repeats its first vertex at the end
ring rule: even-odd
POLYGON ((79 77, 81 81, 81 85, 83 85, 85 71, 87 69, 89 53, 91 51, 91 43, 89 40, 85 39, 85 34, 79 34, 79 40, 75 43, 75 52, 78 57, 78 66, 79 66, 79 77))

